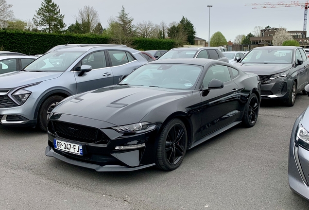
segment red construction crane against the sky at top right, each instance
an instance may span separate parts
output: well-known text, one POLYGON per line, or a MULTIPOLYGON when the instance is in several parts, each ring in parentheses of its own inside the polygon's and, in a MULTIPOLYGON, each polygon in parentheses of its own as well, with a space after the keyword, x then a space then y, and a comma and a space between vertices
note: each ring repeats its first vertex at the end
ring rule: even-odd
POLYGON ((253 6, 252 9, 267 9, 277 7, 296 7, 299 6, 305 9, 304 16, 304 31, 307 31, 307 16, 309 8, 309 0, 306 1, 277 1, 277 2, 265 2, 265 3, 251 3, 245 4, 245 6, 253 6))

